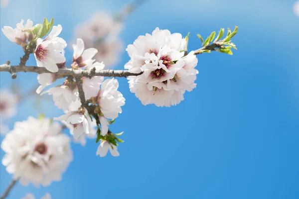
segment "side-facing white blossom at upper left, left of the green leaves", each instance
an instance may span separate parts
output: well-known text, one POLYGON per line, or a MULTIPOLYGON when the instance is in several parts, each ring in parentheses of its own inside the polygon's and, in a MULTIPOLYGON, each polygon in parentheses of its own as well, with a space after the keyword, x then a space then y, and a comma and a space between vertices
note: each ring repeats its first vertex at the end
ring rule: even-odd
POLYGON ((31 41, 33 39, 32 33, 23 32, 25 29, 32 29, 33 22, 30 19, 27 19, 26 24, 23 25, 24 20, 16 24, 15 28, 10 26, 4 26, 2 28, 3 34, 9 39, 9 41, 16 43, 18 45, 27 45, 27 40, 31 41))

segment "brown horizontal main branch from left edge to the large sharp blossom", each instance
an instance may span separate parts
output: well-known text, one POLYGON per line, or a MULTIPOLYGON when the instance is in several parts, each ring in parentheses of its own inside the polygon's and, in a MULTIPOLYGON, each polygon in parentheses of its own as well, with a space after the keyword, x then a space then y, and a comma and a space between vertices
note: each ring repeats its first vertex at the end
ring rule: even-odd
MULTIPOLYGON (((29 73, 52 73, 48 71, 46 68, 43 67, 37 67, 37 66, 10 66, 8 64, 2 64, 0 65, 0 72, 9 72, 11 73, 19 73, 19 72, 29 72, 29 73)), ((52 73, 52 74, 57 74, 60 78, 64 78, 66 76, 77 76, 81 75, 81 77, 94 77, 94 76, 102 76, 102 77, 129 77, 129 76, 139 76, 142 73, 131 73, 127 70, 101 70, 101 71, 96 71, 95 68, 92 68, 87 71, 83 70, 72 70, 72 69, 58 69, 58 72, 52 73)), ((16 75, 15 75, 16 78, 16 75)), ((15 79, 13 78, 13 79, 15 79)))

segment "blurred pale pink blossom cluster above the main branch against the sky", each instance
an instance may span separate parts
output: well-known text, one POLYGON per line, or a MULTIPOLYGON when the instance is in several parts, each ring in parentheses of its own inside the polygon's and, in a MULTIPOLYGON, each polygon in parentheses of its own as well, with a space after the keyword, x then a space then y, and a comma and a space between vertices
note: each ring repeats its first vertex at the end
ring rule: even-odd
POLYGON ((75 37, 82 38, 87 48, 95 48, 98 53, 96 61, 104 62, 106 66, 113 66, 119 60, 123 50, 123 42, 119 38, 122 23, 105 12, 97 12, 75 29, 75 37))

